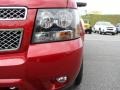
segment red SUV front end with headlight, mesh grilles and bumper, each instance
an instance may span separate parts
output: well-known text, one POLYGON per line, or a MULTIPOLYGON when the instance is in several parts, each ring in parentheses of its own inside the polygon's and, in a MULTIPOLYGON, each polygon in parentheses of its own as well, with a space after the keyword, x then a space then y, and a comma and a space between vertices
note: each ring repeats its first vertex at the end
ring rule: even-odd
POLYGON ((75 0, 1 0, 0 90, 80 84, 82 26, 75 0))

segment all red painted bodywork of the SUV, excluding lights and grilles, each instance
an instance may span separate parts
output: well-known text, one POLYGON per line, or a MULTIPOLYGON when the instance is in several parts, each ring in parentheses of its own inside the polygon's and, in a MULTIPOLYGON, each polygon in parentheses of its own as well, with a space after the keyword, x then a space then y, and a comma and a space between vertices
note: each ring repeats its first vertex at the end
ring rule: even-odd
POLYGON ((76 8, 74 0, 1 0, 0 6, 26 6, 24 21, 0 21, 1 29, 23 28, 19 50, 0 52, 0 87, 19 90, 60 90, 71 85, 83 59, 84 34, 81 38, 43 44, 31 44, 37 8, 76 8), (67 75, 68 81, 57 85, 56 78, 67 75))

